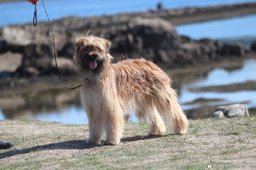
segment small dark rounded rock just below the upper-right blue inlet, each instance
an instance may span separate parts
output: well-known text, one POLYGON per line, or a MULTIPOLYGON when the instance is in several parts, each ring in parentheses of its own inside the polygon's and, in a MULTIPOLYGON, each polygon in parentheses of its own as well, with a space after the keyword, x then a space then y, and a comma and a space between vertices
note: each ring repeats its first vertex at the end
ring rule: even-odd
POLYGON ((221 49, 221 54, 227 56, 243 56, 245 48, 237 43, 227 43, 221 49))

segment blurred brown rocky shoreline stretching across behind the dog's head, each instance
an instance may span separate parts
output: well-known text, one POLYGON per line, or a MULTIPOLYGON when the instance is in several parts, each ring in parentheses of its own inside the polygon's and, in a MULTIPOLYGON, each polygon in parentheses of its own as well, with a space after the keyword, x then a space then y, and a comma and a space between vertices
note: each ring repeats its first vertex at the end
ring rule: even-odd
MULTIPOLYGON (((74 42, 77 36, 85 35, 89 30, 93 35, 112 42, 111 54, 115 61, 143 57, 163 68, 180 68, 223 58, 242 57, 255 50, 255 45, 252 45, 252 49, 246 49, 234 43, 222 45, 212 39, 191 40, 178 35, 172 24, 187 23, 185 19, 198 22, 202 18, 208 20, 246 15, 255 13, 255 9, 256 3, 244 3, 55 20, 52 27, 58 66, 63 75, 76 74, 72 61, 74 42), (175 20, 179 20, 179 23, 175 20)), ((21 55, 22 59, 14 72, 0 70, 0 77, 56 74, 52 51, 51 29, 47 22, 40 22, 36 27, 32 24, 1 27, 0 58, 16 54, 21 55)))

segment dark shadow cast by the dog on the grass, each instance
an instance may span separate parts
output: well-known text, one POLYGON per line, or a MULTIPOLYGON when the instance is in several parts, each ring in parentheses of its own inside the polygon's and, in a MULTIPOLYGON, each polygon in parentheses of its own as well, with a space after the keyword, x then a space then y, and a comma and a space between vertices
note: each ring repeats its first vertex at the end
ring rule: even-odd
MULTIPOLYGON (((134 137, 126 137, 121 139, 122 143, 132 142, 132 141, 140 141, 140 140, 147 140, 152 138, 164 137, 167 135, 155 135, 155 136, 142 136, 136 135, 134 137)), ((7 151, 5 153, 0 154, 0 159, 6 157, 13 157, 15 155, 22 155, 33 151, 42 151, 42 150, 86 150, 95 147, 102 147, 106 146, 104 144, 87 144, 85 140, 74 140, 74 141, 65 141, 60 143, 51 143, 51 144, 44 144, 33 146, 31 148, 26 148, 23 150, 13 150, 7 151)))

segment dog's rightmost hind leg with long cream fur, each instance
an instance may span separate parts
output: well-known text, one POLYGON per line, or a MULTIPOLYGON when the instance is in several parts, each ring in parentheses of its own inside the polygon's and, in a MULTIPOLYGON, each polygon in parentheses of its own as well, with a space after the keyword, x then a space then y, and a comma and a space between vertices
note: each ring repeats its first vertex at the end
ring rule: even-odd
POLYGON ((180 107, 176 91, 167 86, 165 90, 161 90, 161 94, 156 100, 158 103, 157 110, 164 120, 168 122, 173 134, 186 134, 188 131, 188 119, 180 107))

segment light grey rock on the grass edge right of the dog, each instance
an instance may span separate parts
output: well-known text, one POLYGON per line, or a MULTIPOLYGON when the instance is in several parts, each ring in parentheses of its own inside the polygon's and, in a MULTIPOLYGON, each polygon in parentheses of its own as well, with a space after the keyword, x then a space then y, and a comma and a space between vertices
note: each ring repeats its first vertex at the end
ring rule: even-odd
POLYGON ((220 106, 212 112, 213 118, 234 118, 240 116, 250 116, 246 105, 243 104, 234 104, 227 106, 220 106))

